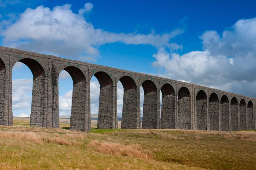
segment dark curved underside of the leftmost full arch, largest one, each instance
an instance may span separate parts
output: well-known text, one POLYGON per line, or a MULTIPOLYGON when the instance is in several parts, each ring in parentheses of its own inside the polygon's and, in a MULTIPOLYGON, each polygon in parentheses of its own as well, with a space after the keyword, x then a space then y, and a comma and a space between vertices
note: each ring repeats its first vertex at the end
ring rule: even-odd
POLYGON ((24 58, 20 59, 19 62, 22 62, 31 70, 33 74, 33 78, 36 79, 37 77, 45 76, 44 68, 39 64, 39 62, 35 61, 34 59, 24 58))

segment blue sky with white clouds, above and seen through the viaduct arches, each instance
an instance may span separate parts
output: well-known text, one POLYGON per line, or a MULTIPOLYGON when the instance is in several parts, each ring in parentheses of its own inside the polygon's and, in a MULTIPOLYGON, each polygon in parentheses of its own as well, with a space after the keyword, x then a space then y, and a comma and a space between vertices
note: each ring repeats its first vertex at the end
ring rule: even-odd
MULTIPOLYGON (((0 0, 0 45, 256 97, 255 6, 251 0, 0 0)), ((31 78, 22 64, 13 69, 15 115, 29 115, 31 78)), ((91 80, 93 113, 97 83, 91 80)), ((70 114, 67 73, 59 86, 61 114, 70 114)), ((118 99, 122 110, 122 85, 118 99)))

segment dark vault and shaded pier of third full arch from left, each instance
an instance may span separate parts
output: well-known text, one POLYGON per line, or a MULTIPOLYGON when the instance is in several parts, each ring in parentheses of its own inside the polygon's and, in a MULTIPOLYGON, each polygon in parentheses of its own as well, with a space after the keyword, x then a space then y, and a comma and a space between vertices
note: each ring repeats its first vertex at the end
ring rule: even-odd
POLYGON ((103 71, 96 72, 93 76, 99 81, 99 113, 98 129, 116 129, 117 122, 117 102, 116 86, 113 85, 111 77, 103 71))

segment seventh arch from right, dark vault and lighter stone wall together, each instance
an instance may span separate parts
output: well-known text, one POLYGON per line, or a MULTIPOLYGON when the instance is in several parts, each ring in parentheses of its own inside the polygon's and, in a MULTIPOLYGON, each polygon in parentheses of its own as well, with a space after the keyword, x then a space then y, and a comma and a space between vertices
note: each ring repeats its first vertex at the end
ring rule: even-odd
POLYGON ((191 96, 189 89, 181 87, 177 94, 177 128, 191 129, 191 96))

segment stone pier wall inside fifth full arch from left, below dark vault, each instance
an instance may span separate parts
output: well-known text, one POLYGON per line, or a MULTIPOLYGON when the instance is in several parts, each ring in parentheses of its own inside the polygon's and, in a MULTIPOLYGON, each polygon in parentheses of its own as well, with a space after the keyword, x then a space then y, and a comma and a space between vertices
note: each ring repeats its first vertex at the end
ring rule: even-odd
POLYGON ((143 102, 143 129, 158 129, 159 128, 159 114, 158 105, 159 103, 159 93, 151 92, 144 93, 143 102))

